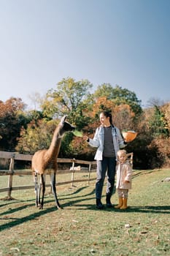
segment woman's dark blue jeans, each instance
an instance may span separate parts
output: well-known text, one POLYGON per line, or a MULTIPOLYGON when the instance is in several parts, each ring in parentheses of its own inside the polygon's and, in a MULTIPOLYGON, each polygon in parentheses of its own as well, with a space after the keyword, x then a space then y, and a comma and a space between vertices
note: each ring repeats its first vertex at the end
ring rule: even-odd
POLYGON ((107 173, 107 195, 112 196, 115 192, 115 157, 103 157, 103 160, 97 161, 97 178, 96 178, 96 199, 101 199, 104 179, 107 173))

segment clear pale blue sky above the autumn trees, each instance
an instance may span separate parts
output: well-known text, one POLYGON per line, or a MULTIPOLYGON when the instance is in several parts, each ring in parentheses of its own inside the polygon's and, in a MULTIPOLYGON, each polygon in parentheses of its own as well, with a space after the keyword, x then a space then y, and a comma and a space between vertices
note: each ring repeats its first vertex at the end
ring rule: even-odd
POLYGON ((0 100, 63 78, 170 100, 170 0, 0 0, 0 100))

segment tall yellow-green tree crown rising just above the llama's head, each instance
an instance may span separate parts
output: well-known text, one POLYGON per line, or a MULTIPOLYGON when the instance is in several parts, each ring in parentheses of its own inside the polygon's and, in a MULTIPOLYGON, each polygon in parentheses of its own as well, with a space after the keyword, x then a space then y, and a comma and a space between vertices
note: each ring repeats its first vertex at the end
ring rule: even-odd
POLYGON ((82 129, 88 121, 87 116, 84 116, 85 110, 93 100, 89 92, 91 88, 92 84, 88 80, 63 78, 56 89, 47 91, 41 105, 44 116, 59 118, 68 115, 69 121, 82 129))

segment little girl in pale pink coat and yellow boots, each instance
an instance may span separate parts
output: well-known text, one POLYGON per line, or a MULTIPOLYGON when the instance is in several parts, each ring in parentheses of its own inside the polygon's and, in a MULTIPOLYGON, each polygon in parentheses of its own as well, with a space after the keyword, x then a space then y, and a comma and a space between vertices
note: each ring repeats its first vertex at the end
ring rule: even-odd
POLYGON ((117 181, 116 188, 119 204, 115 208, 126 209, 128 201, 128 189, 131 189, 132 167, 127 160, 125 150, 117 151, 117 181))

